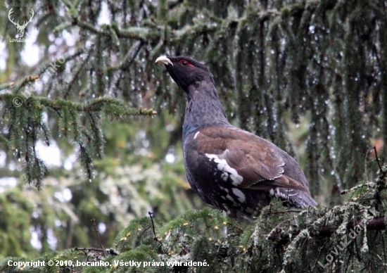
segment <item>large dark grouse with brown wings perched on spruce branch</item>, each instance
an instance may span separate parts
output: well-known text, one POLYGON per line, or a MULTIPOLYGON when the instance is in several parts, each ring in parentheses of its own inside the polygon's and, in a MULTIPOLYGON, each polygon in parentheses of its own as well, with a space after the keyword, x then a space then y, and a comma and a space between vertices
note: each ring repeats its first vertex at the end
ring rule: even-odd
POLYGON ((317 205, 300 165, 271 142, 232 126, 211 72, 185 56, 160 56, 186 93, 183 151, 191 188, 230 217, 250 219, 272 197, 290 206, 317 205))

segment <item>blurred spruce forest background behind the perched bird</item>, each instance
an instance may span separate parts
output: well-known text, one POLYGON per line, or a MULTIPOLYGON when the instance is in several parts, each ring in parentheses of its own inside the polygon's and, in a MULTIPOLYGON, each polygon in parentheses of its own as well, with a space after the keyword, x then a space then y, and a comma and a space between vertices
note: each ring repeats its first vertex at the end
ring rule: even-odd
MULTIPOLYGON (((383 217, 385 172, 378 173, 375 151, 382 165, 387 1, 23 3, 31 5, 0 7, 0 260, 99 248, 91 219, 108 248, 148 212, 160 224, 206 206, 186 182, 185 98, 154 64, 161 55, 208 65, 231 122, 300 162, 321 205, 315 217, 330 215, 328 222, 343 225, 341 232, 359 215, 367 220, 369 206, 383 217), (29 20, 22 37, 15 23, 29 20), (360 183, 371 197, 341 194, 360 183), (356 209, 345 206, 348 200, 356 209)), ((252 238, 256 229, 250 230, 252 238)), ((337 243, 342 233, 336 233, 337 243)), ((334 247, 331 239, 326 253, 334 247)), ((284 261, 291 260, 284 253, 297 255, 288 241, 281 243, 276 255, 284 261)), ((295 272, 322 270, 316 262, 324 264, 325 255, 315 243, 319 256, 292 265, 295 272)), ((384 244, 376 247, 384 253, 384 244)), ((355 251, 345 255, 329 268, 363 268, 365 259, 378 270, 369 253, 363 260, 355 251)), ((271 260, 260 269, 279 272, 291 264, 271 260)))

